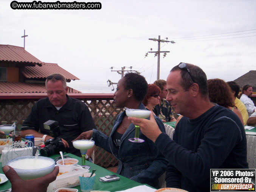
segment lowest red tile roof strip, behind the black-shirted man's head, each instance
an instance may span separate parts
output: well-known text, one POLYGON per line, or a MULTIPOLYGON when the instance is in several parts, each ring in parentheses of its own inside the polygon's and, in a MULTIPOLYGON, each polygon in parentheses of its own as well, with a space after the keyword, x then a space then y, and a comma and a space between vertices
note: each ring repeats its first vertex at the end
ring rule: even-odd
MULTIPOLYGON (((43 83, 0 82, 0 93, 46 93, 43 83)), ((68 93, 81 93, 69 87, 68 93)))

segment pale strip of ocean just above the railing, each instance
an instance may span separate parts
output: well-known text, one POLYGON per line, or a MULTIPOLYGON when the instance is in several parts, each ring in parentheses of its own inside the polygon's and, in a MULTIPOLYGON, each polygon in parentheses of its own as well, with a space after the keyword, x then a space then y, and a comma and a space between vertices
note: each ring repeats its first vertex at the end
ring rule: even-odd
MULTIPOLYGON (((68 87, 81 91, 82 93, 115 93, 112 91, 112 85, 108 87, 107 82, 83 82, 83 81, 71 81, 67 83, 68 87)), ((116 89, 116 85, 113 85, 116 89)))

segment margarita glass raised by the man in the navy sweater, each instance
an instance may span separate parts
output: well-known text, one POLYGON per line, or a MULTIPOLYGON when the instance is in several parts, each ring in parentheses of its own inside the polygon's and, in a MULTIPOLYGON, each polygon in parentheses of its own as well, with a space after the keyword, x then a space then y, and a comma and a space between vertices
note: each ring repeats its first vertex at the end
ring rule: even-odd
MULTIPOLYGON (((151 111, 149 110, 142 110, 142 109, 126 109, 126 115, 128 117, 137 117, 137 118, 143 118, 146 119, 150 116, 151 111)), ((134 125, 135 126, 135 137, 128 139, 131 142, 144 142, 143 139, 139 138, 140 134, 140 126, 139 125, 134 125)))

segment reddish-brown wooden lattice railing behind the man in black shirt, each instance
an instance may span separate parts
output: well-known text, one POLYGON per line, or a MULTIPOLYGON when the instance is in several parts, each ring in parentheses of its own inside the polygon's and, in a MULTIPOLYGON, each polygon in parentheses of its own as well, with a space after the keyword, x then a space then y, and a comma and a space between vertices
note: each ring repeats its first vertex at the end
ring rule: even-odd
MULTIPOLYGON (((83 101, 88 106, 97 129, 106 135, 110 134, 116 115, 123 111, 122 108, 116 108, 113 104, 113 94, 68 93, 68 95, 83 101)), ((16 122, 17 129, 20 129, 35 102, 45 97, 47 97, 45 93, 1 93, 0 124, 16 122)), ((96 147, 94 163, 107 168, 116 166, 118 160, 102 148, 96 147)))

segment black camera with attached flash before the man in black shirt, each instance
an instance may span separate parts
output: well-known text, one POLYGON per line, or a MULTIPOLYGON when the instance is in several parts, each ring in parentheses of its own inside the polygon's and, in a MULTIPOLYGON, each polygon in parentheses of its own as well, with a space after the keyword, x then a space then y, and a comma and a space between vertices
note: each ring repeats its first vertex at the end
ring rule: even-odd
POLYGON ((45 147, 40 149, 40 155, 48 157, 54 154, 58 154, 60 151, 66 152, 64 144, 59 137, 59 123, 57 121, 49 120, 43 124, 43 127, 47 130, 50 130, 50 136, 54 138, 45 141, 45 147))

